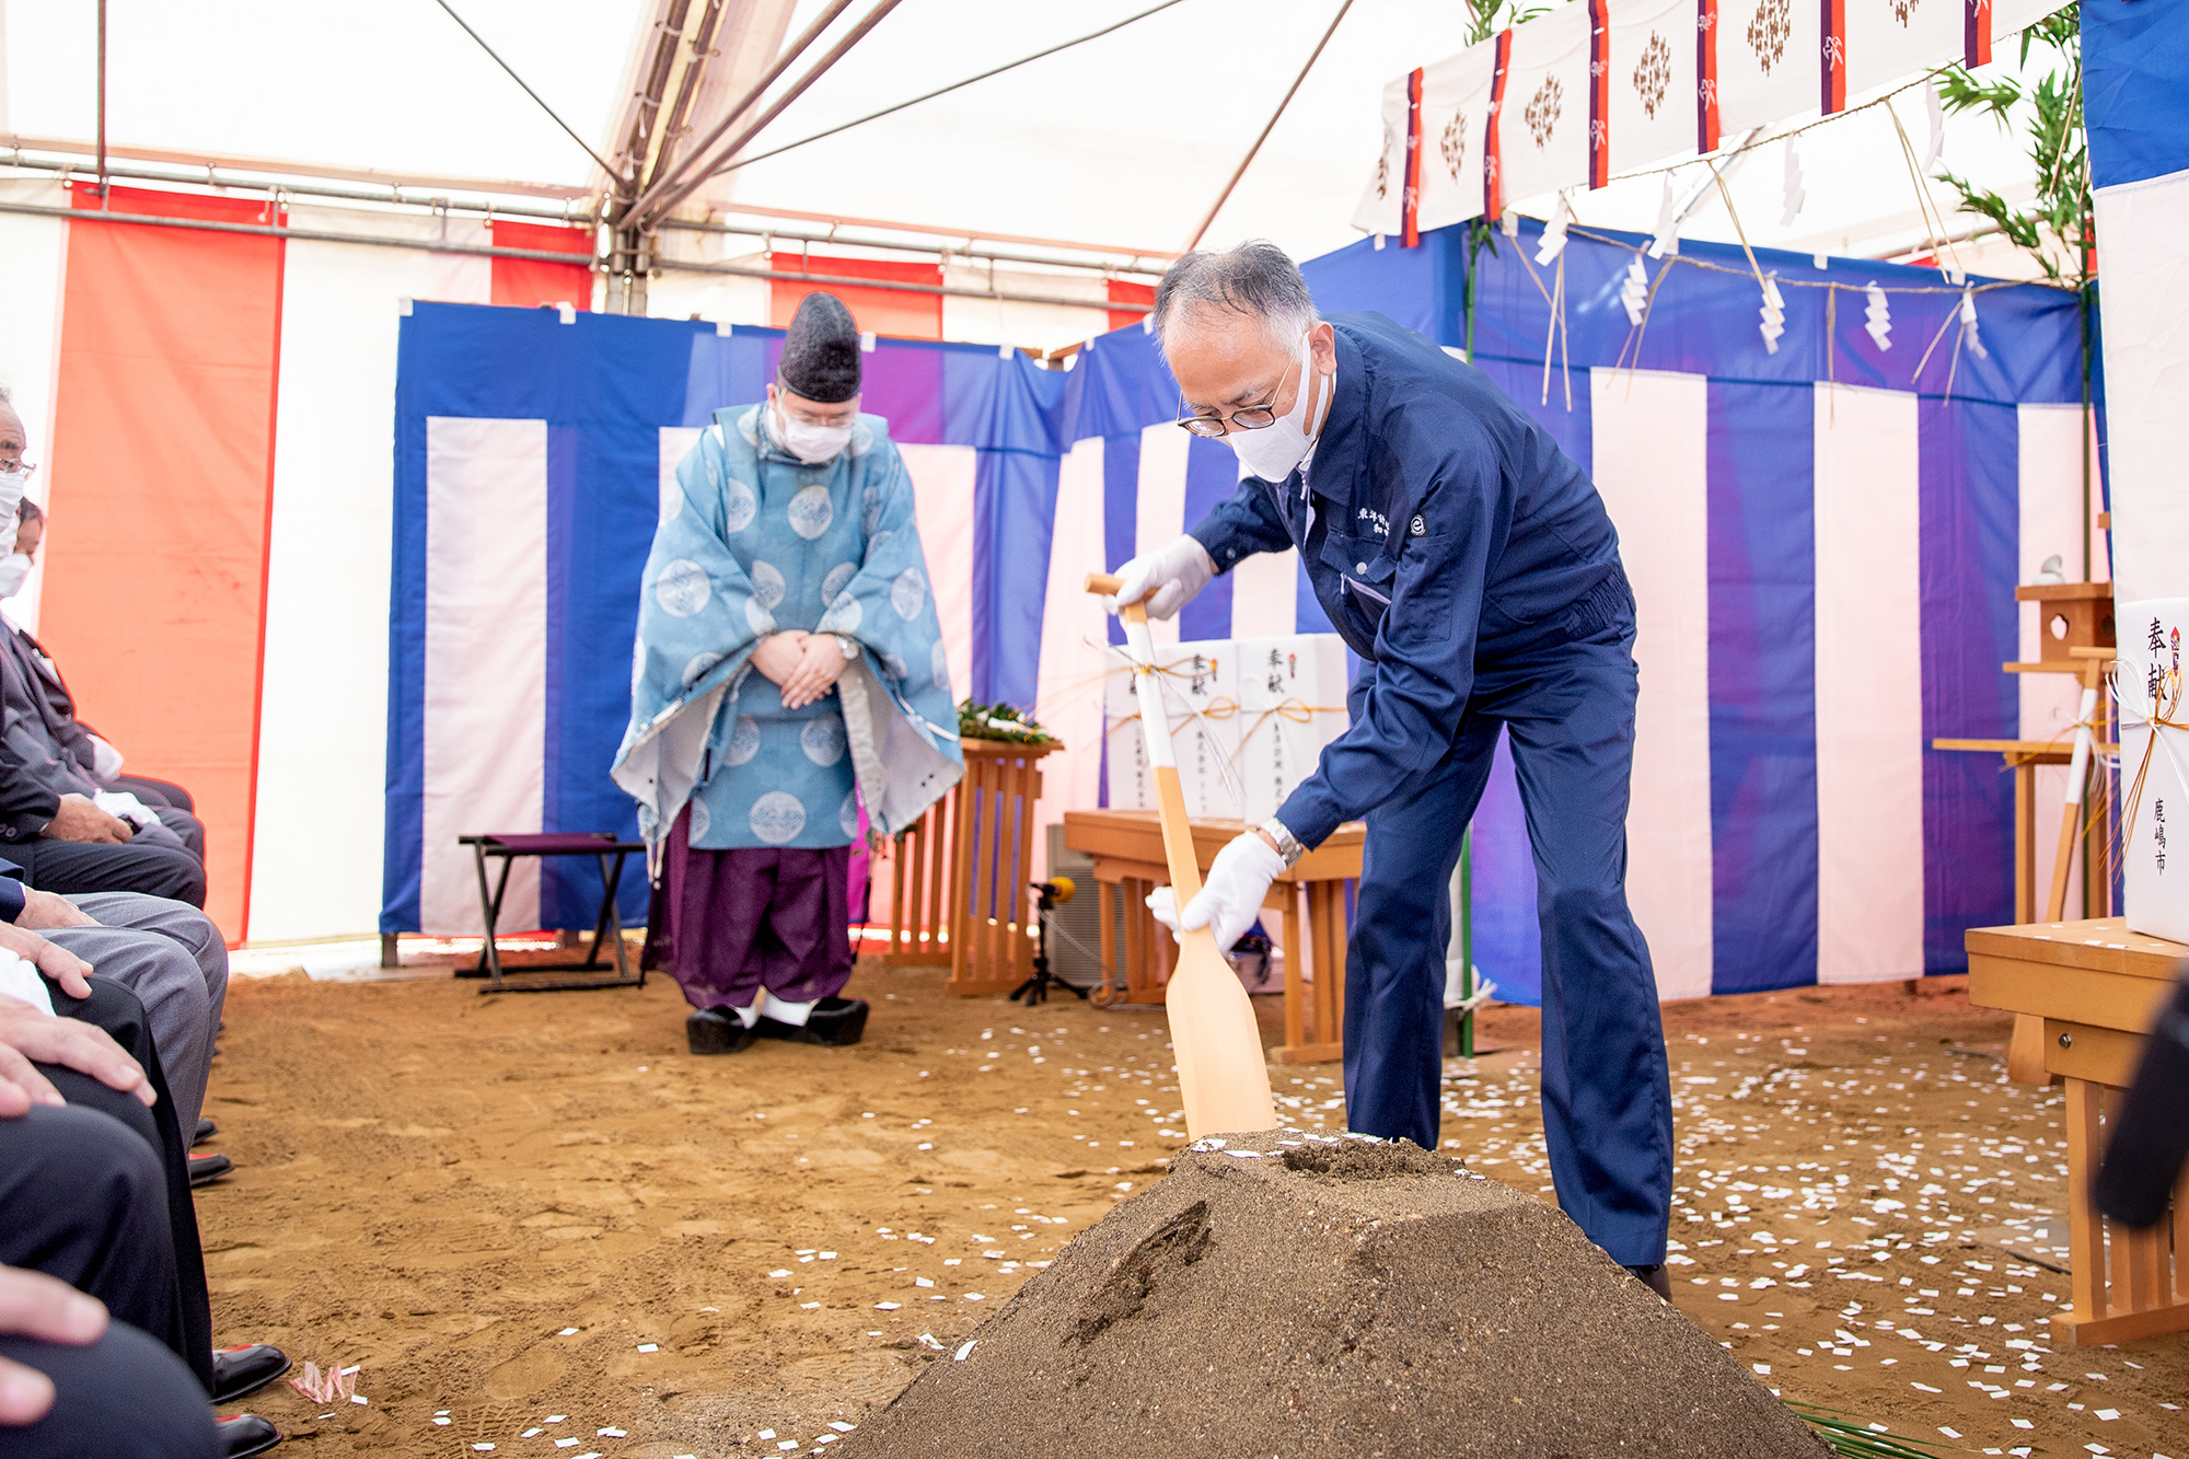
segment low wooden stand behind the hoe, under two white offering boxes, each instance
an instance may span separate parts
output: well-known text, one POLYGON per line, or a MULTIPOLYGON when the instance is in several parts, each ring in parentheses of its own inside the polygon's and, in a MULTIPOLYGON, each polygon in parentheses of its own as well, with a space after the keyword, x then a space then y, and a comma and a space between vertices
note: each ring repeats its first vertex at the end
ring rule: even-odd
MULTIPOLYGON (((1246 822, 1195 819, 1193 859, 1206 872, 1246 822)), ((1359 881, 1368 828, 1346 822, 1270 885, 1265 909, 1285 918, 1285 1043, 1281 1065, 1320 1065, 1344 1056, 1346 883, 1359 881), (1313 973, 1313 981, 1309 981, 1313 973)), ((1160 1003, 1171 975, 1169 931, 1147 909, 1147 894, 1169 885, 1162 828, 1154 811, 1066 811, 1064 846, 1094 859, 1101 909, 1101 960, 1123 988, 1112 1001, 1160 1003), (1116 946, 1123 909, 1123 946, 1116 946)))

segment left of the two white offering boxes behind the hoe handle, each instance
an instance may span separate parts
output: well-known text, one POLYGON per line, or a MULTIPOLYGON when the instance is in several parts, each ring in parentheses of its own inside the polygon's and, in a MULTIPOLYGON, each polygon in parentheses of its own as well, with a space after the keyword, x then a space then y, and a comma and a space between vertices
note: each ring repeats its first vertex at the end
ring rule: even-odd
MULTIPOLYGON (((1186 815, 1237 819, 1239 800, 1224 784, 1224 769, 1237 778, 1239 754, 1239 655, 1228 640, 1158 644, 1162 703, 1171 721, 1171 754, 1186 815), (1191 705, 1191 708, 1189 708, 1191 705)), ((1110 655, 1103 681, 1103 721, 1110 734, 1110 806, 1154 811, 1156 778, 1147 769, 1140 734, 1140 703, 1121 653, 1110 655)))

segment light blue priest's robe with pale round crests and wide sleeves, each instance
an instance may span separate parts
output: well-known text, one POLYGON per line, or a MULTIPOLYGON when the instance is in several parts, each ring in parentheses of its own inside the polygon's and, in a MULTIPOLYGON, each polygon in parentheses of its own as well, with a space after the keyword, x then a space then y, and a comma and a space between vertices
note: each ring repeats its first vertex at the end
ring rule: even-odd
POLYGON ((665 489, 646 559, 630 727, 613 778, 659 850, 685 804, 694 850, 830 848, 919 819, 963 776, 913 482, 858 416, 819 467, 764 405, 718 410, 665 489), (836 692, 786 710, 751 666, 779 629, 858 642, 836 692), (856 793, 854 793, 856 786, 856 793))

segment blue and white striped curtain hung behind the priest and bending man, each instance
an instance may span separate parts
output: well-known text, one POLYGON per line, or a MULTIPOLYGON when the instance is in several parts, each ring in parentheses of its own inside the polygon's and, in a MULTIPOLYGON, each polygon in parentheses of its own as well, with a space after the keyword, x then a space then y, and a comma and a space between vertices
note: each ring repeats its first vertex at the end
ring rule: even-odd
MULTIPOLYGON (((1379 309, 1458 346, 1460 232, 1305 272, 1324 311, 1379 309)), ((1637 331, 1620 289, 1646 239, 1574 230, 1552 265, 1532 261, 1532 223, 1497 243, 1475 361, 1596 478, 1640 600, 1629 892, 1661 992, 1964 966, 1961 929, 2012 918, 2012 784, 1994 756, 1929 743, 2049 738, 2073 716, 2064 683, 1999 666, 2036 657, 2014 585, 2055 552, 2082 565, 2075 298, 1977 280, 1970 329, 1933 269, 1758 252, 1786 305, 1773 353, 1738 248, 1683 245, 1637 331), (1872 283, 1889 348, 1863 329, 1872 283)), ((628 824, 606 762, 659 480, 709 410, 760 397, 777 346, 552 311, 405 320, 383 929, 475 924, 462 830, 628 824)), ((1070 747, 1044 760, 1044 819, 1099 804, 1112 624, 1081 578, 1228 495, 1232 453, 1171 425, 1175 383, 1138 326, 1070 372, 882 340, 867 410, 906 447, 959 690, 1033 705, 1070 747)), ((1173 631, 1327 622, 1285 554, 1228 574, 1173 631)), ((528 907, 589 920, 587 876, 558 876, 528 907)), ((1475 824, 1475 927, 1484 973, 1532 997, 1508 765, 1475 824)))

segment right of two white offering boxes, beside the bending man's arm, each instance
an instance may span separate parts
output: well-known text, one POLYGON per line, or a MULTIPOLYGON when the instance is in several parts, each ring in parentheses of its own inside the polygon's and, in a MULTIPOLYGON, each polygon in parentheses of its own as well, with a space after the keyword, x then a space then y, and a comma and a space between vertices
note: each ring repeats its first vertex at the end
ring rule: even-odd
POLYGON ((1241 637, 1239 782, 1250 826, 1276 815, 1316 771, 1322 747, 1346 732, 1346 644, 1335 633, 1241 637))

